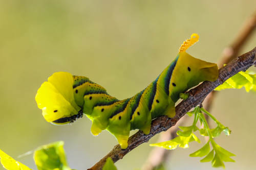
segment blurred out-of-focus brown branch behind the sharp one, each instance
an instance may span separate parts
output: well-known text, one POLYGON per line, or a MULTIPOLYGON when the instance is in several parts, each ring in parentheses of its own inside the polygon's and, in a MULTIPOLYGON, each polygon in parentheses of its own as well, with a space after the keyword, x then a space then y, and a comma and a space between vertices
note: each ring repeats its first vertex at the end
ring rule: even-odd
MULTIPOLYGON (((241 48, 245 45, 246 41, 248 41, 248 39, 250 38, 250 36, 252 35, 255 29, 256 29, 256 11, 252 16, 250 16, 245 21, 236 39, 234 39, 233 42, 223 50, 222 57, 218 62, 219 67, 222 67, 224 64, 228 63, 229 61, 231 61, 232 59, 238 56, 241 48)), ((216 93, 217 91, 212 91, 206 96, 203 102, 203 107, 207 111, 211 110, 211 106, 212 106, 212 103, 214 102, 216 93)), ((205 118, 208 120, 207 115, 205 115, 205 118)), ((176 125, 175 128, 171 128, 165 133, 161 133, 159 138, 165 139, 165 141, 173 139, 177 131, 178 131, 178 126, 176 125), (173 135, 170 135, 170 134, 173 134, 173 135)), ((205 137, 205 139, 208 140, 208 137, 205 137)), ((150 153, 150 155, 148 156, 144 165, 142 166, 142 170, 152 170, 155 167, 159 166, 160 164, 164 163, 171 152, 172 151, 170 150, 164 150, 162 148, 155 147, 150 153), (157 158, 155 155, 157 155, 157 158)))

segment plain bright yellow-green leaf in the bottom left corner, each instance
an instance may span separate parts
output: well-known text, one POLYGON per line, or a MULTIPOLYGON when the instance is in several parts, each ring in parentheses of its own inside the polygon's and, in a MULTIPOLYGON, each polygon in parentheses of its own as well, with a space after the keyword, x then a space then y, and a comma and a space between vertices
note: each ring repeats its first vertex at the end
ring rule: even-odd
POLYGON ((32 170, 28 166, 14 160, 12 157, 0 150, 1 163, 8 170, 32 170))

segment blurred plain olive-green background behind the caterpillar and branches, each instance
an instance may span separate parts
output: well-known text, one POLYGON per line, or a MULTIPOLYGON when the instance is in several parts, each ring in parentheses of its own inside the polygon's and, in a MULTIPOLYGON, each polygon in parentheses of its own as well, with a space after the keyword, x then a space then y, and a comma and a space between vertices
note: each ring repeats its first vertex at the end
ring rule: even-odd
MULTIPOLYGON (((106 131, 94 137, 86 117, 66 126, 47 123, 34 100, 42 82, 53 72, 68 71, 89 77, 119 99, 127 98, 152 82, 192 33, 198 33, 200 41, 188 53, 217 62, 255 7, 254 0, 0 0, 0 148, 17 159, 63 140, 72 168, 91 167, 117 141, 106 131)), ((255 46, 255 37, 254 32, 241 53, 255 46)), ((214 102, 211 113, 232 130, 229 137, 216 140, 237 155, 226 169, 256 168, 255 101, 255 93, 241 89, 222 91, 214 102)), ((149 143, 116 166, 141 167, 152 149, 149 143)), ((201 146, 192 143, 189 149, 175 150, 168 169, 212 169, 210 163, 188 156, 201 146)), ((32 155, 17 160, 36 169, 32 155)))

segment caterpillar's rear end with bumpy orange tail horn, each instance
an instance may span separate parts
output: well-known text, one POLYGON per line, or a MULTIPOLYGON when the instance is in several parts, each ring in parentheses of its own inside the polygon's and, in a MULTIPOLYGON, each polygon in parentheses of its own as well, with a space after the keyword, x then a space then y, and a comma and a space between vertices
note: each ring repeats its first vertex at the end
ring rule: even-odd
POLYGON ((180 92, 203 81, 215 81, 219 76, 217 64, 194 58, 186 53, 187 48, 198 40, 199 36, 192 34, 191 38, 184 41, 180 47, 178 61, 169 86, 172 91, 171 97, 175 102, 179 99, 180 92))

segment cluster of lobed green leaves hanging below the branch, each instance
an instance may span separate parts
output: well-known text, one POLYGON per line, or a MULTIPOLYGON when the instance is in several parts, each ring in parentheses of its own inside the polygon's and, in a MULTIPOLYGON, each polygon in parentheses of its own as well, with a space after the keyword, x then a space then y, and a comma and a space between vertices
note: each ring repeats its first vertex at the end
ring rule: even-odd
POLYGON ((221 132, 224 132, 226 135, 230 135, 231 131, 228 127, 223 126, 214 116, 212 116, 209 112, 205 109, 196 107, 192 112, 187 113, 189 116, 194 115, 194 121, 191 126, 188 127, 179 127, 181 130, 177 131, 177 137, 168 140, 165 142, 154 143, 151 146, 154 147, 161 147, 168 150, 176 149, 177 147, 180 148, 188 148, 188 143, 191 141, 197 141, 200 143, 199 138, 194 134, 194 132, 199 131, 202 136, 208 136, 209 140, 207 143, 198 151, 190 154, 191 157, 203 157, 205 156, 201 162, 209 162, 211 161, 212 167, 225 167, 224 162, 234 162, 231 159, 231 156, 235 156, 234 154, 230 153, 229 151, 223 149, 218 145, 214 138, 219 136, 221 132), (214 122, 217 124, 217 127, 214 129, 210 129, 208 123, 204 117, 204 112, 207 114, 214 122), (200 121, 200 124, 204 125, 203 128, 197 127, 197 122, 200 121), (212 149, 210 148, 210 144, 212 149))

